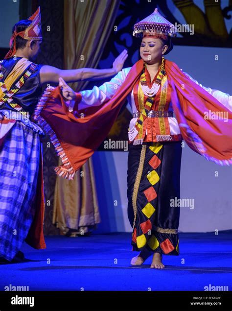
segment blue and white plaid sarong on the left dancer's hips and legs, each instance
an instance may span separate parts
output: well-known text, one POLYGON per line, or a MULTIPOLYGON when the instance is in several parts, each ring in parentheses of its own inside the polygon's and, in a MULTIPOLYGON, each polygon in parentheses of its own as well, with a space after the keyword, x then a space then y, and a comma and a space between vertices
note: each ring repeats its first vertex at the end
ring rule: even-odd
POLYGON ((40 135, 17 121, 0 147, 0 257, 20 250, 35 214, 40 135))

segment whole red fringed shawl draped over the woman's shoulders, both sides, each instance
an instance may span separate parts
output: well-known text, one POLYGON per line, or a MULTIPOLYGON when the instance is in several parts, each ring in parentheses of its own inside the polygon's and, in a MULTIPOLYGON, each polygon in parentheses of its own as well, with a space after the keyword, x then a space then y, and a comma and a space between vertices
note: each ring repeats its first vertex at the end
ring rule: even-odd
MULTIPOLYGON (((69 112, 58 87, 44 93, 34 119, 50 136, 61 157, 63 164, 55 168, 58 175, 73 179, 75 172, 92 156, 110 132, 142 70, 140 59, 110 100, 79 111, 84 113, 83 118, 69 112)), ((175 63, 166 60, 165 71, 172 87, 173 109, 186 144, 207 160, 220 165, 232 164, 232 112, 191 81, 175 63), (209 110, 228 112, 228 122, 205 120, 204 113, 209 110)))

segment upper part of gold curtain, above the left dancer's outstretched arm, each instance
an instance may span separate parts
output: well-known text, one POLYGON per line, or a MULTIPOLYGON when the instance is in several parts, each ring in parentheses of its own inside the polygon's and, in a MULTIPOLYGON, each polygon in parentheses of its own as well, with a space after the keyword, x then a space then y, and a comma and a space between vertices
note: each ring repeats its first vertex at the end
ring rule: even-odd
MULTIPOLYGON (((64 1, 66 69, 96 68, 114 26, 120 0, 64 1)), ((88 82, 74 83, 78 91, 88 82)))

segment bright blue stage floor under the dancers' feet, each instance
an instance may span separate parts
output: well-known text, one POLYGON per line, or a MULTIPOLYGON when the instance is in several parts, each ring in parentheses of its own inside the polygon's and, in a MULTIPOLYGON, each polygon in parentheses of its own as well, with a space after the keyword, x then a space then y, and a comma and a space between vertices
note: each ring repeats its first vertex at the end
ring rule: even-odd
POLYGON ((130 266, 131 234, 91 237, 46 237, 46 250, 23 245, 31 261, 0 265, 0 290, 29 286, 29 290, 232 290, 232 233, 180 234, 180 256, 164 256, 163 270, 150 269, 151 258, 130 266), (50 263, 49 263, 50 260, 50 263), (182 263, 183 260, 185 263, 182 263))

